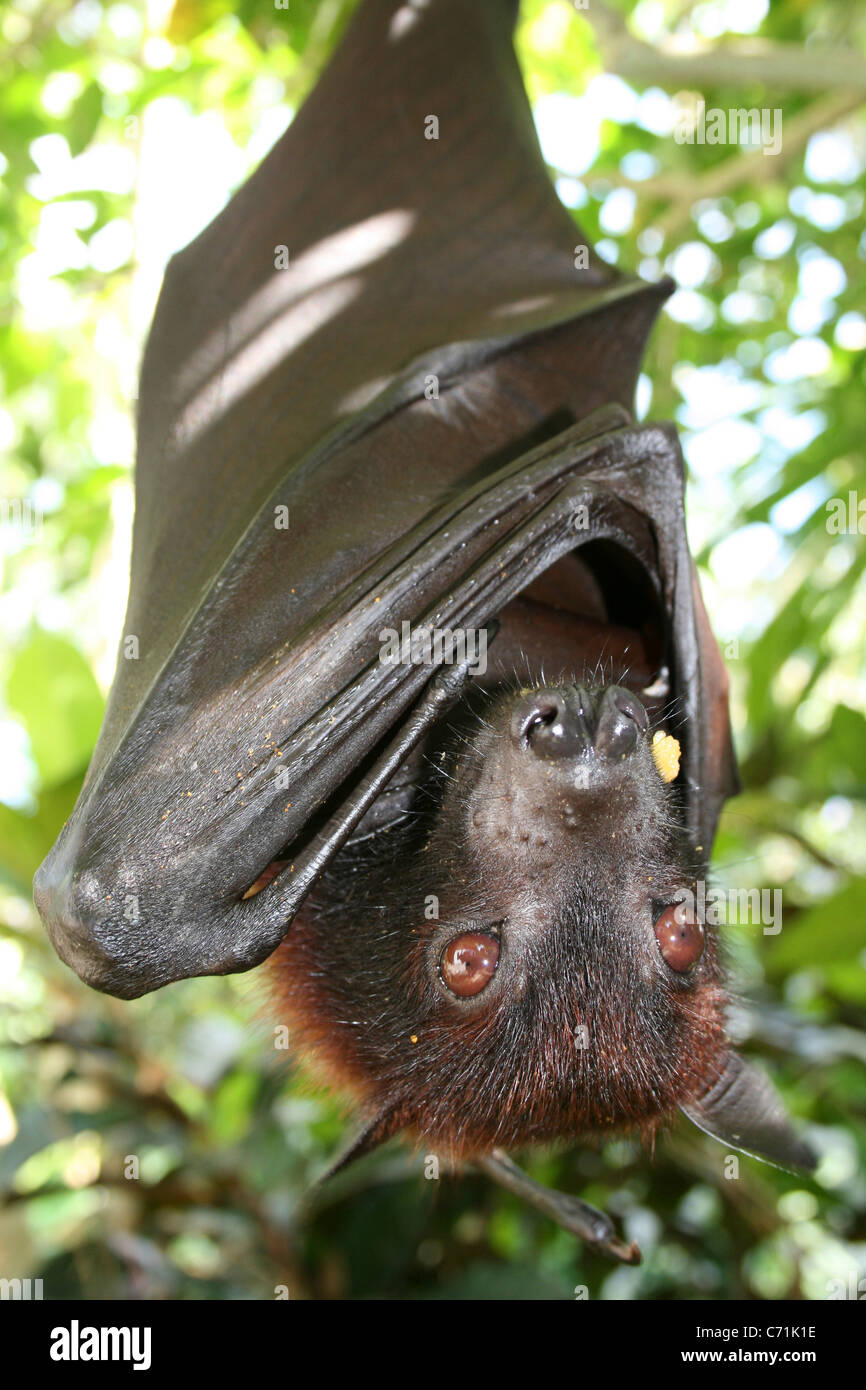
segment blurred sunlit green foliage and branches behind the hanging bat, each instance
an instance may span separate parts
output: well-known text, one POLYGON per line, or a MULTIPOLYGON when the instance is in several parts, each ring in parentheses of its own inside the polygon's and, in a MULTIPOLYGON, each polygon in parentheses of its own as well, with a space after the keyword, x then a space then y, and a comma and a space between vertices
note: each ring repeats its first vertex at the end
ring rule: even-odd
POLYGON ((826 1298, 866 1276, 866 550, 856 512, 838 532, 826 506, 866 498, 866 11, 847 0, 527 0, 518 28, 560 196, 606 259, 680 286, 638 407, 681 428, 734 682, 745 791, 714 867, 784 892, 778 935, 726 930, 731 1029, 808 1126, 816 1180, 742 1159, 726 1182, 688 1126, 652 1158, 532 1158, 616 1215, 639 1269, 480 1177, 427 1182, 399 1145, 306 1202, 345 1118, 275 1061, 254 974, 121 1004, 35 916, 121 631, 165 259, 285 128, 352 8, 0 14, 0 1275, 82 1298, 826 1298), (781 154, 677 143, 683 92, 781 108, 781 154))

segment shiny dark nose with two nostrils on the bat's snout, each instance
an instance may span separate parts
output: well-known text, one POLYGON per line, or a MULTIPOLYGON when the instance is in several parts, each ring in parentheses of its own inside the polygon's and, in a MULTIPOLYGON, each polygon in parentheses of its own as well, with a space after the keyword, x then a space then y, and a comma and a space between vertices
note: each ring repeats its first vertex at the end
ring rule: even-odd
POLYGON ((512 713, 514 742, 545 759, 596 753, 609 762, 627 758, 649 727, 644 705, 621 685, 601 691, 582 685, 537 689, 512 713))

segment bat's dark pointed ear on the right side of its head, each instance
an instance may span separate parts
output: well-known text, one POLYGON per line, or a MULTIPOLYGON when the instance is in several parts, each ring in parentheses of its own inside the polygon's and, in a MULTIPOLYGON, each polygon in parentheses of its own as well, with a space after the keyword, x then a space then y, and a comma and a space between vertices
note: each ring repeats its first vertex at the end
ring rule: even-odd
POLYGON ((815 1155, 796 1137, 778 1094, 762 1070, 728 1052, 721 1076, 683 1113, 705 1134, 777 1168, 815 1168, 815 1155))

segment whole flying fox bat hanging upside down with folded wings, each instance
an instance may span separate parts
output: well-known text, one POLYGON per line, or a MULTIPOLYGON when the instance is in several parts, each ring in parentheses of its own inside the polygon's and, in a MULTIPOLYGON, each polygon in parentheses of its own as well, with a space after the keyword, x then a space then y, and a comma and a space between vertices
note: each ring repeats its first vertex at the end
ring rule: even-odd
POLYGON ((637 1258, 505 1151, 681 1109, 809 1154, 685 901, 737 778, 677 435, 630 414, 671 285, 559 202, 513 19, 367 0, 170 263, 121 659, 36 901, 121 998, 275 952, 353 1155, 407 1130, 637 1258))

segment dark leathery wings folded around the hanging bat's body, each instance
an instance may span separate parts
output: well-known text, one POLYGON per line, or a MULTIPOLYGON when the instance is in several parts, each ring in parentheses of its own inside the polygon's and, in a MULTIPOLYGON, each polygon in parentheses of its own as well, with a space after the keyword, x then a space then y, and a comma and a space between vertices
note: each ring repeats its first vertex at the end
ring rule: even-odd
POLYGON ((168 267, 140 386, 138 656, 36 880, 58 952, 97 988, 264 959, 302 892, 291 867, 245 891, 286 847, 309 890, 339 844, 320 852, 321 817, 339 826, 424 699, 430 669, 382 664, 381 631, 482 627, 588 539, 657 589, 709 853, 734 787, 727 685, 676 434, 628 416, 670 286, 592 253, 575 268, 510 11, 370 0, 168 267))

